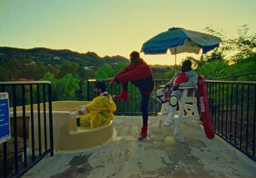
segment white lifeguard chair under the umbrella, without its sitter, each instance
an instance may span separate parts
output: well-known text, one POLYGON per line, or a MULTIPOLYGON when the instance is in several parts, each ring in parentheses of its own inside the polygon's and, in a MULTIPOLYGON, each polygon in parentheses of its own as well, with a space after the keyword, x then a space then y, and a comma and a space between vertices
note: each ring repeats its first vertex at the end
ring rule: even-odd
MULTIPOLYGON (((179 134, 180 124, 184 122, 195 121, 198 126, 200 124, 200 115, 198 114, 197 100, 195 97, 196 88, 197 87, 179 87, 179 89, 183 89, 183 93, 180 100, 178 100, 179 110, 176 110, 174 115, 174 134, 179 134), (187 96, 188 90, 191 90, 190 96, 187 96)), ((159 126, 167 119, 168 115, 162 114, 165 110, 165 106, 162 105, 161 112, 157 114, 159 126)))

